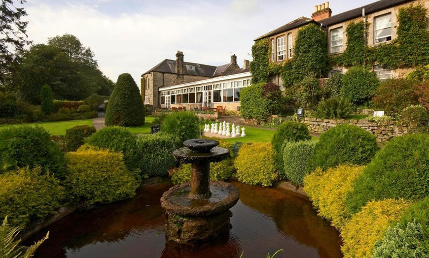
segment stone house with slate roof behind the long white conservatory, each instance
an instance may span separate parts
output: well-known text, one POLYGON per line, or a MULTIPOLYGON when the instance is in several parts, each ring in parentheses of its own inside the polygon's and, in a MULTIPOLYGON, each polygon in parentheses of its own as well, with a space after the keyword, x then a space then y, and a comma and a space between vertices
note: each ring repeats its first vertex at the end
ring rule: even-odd
POLYGON ((165 59, 142 74, 141 93, 144 104, 161 107, 161 88, 227 75, 240 68, 235 55, 231 56, 230 63, 220 66, 184 62, 183 57, 183 52, 178 51, 176 60, 165 59))

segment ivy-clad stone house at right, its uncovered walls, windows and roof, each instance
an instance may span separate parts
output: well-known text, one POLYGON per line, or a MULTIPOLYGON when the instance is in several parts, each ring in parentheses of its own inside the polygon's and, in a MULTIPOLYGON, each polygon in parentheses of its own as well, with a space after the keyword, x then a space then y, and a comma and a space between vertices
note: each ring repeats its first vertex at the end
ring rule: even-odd
MULTIPOLYGON (((363 21, 368 25, 367 32, 364 35, 367 46, 373 47, 378 44, 389 43, 397 36, 397 13, 399 8, 419 3, 429 9, 429 0, 379 0, 332 16, 329 2, 326 2, 315 6, 311 18, 298 18, 257 37, 255 41, 269 38, 271 44, 270 63, 285 62, 293 57, 293 45, 298 30, 313 23, 319 25, 326 32, 327 54, 328 56, 335 56, 343 53, 347 47, 346 28, 351 22, 358 23, 363 21)), ((391 70, 389 67, 377 64, 372 68, 380 80, 400 77, 411 71, 411 69, 391 70)), ((329 72, 329 76, 338 72, 343 73, 346 70, 346 67, 333 67, 329 72)), ((279 75, 273 78, 273 82, 279 86, 283 85, 279 75)))

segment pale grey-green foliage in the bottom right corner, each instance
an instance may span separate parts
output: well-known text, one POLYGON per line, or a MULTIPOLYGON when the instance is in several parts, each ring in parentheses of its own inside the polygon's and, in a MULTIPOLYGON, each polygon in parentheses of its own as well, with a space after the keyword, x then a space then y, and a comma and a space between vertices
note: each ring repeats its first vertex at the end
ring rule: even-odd
POLYGON ((397 224, 386 229, 383 239, 374 245, 371 258, 385 257, 429 257, 423 242, 422 225, 410 222, 404 228, 397 224))

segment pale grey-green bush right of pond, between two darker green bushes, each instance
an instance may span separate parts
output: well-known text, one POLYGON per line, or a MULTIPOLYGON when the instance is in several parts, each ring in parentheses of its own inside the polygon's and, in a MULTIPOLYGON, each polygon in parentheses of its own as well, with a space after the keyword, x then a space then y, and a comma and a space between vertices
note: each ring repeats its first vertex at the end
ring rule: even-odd
POLYGON ((304 176, 308 174, 307 160, 314 155, 315 148, 316 143, 312 141, 287 142, 283 149, 285 174, 280 177, 302 186, 304 176))

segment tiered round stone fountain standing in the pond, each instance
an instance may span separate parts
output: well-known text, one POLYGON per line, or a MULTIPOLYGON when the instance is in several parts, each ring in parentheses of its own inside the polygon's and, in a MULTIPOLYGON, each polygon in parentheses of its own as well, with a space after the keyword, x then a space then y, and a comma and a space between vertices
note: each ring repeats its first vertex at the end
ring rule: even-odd
POLYGON ((226 182, 210 181, 210 162, 229 157, 219 142, 192 139, 173 152, 177 161, 191 163, 191 182, 172 187, 161 197, 166 210, 167 242, 197 247, 228 234, 230 217, 238 199, 238 189, 226 182))

